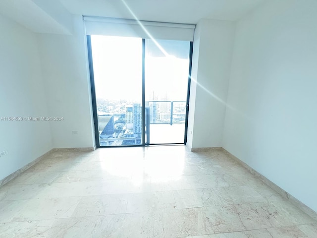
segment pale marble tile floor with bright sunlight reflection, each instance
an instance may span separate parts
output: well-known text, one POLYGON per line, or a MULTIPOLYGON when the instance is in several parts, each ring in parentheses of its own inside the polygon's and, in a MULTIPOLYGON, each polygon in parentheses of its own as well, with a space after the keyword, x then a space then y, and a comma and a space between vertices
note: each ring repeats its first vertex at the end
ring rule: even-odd
POLYGON ((222 150, 54 152, 0 187, 0 238, 317 238, 222 150))

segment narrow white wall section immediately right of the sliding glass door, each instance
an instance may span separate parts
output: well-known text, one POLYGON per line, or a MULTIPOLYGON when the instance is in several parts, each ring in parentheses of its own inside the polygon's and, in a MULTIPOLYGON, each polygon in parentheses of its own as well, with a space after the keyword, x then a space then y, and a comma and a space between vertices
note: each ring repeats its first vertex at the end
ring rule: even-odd
POLYGON ((197 24, 187 138, 191 148, 222 145, 234 31, 230 21, 202 19, 197 24))

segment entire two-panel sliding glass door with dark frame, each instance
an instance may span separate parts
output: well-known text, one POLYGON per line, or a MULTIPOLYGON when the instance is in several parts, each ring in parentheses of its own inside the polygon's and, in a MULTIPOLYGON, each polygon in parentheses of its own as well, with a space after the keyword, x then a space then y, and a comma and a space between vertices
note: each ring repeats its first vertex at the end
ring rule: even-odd
POLYGON ((186 143, 192 43, 87 41, 97 146, 186 143))

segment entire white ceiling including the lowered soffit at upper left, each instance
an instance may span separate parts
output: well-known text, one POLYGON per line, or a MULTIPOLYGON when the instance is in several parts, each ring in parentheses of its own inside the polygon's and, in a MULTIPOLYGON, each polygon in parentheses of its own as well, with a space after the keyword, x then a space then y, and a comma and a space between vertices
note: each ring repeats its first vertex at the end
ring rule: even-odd
POLYGON ((69 34, 71 14, 196 24, 240 19, 265 0, 0 0, 0 14, 38 33, 69 34))

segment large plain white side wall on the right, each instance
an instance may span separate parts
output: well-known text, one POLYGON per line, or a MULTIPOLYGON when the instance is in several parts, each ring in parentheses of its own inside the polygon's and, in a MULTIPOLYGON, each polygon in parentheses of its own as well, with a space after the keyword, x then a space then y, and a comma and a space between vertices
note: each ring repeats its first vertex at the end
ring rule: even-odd
POLYGON ((237 23, 223 147, 317 211, 317 1, 237 23))

